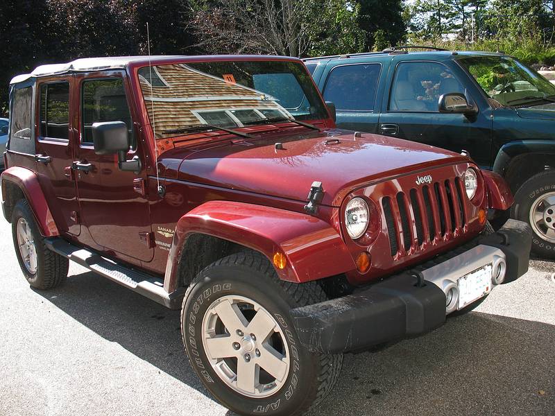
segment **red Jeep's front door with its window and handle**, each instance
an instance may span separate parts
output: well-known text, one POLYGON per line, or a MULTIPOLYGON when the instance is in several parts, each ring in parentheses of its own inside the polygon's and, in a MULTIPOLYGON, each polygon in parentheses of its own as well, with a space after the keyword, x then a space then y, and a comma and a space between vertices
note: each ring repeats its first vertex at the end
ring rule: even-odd
POLYGON ((89 234, 82 241, 93 247, 98 245, 99 250, 124 261, 151 261, 154 249, 148 201, 141 192, 146 189, 146 170, 138 174, 121 171, 117 155, 96 155, 92 141, 93 123, 123 121, 132 143, 127 159, 137 155, 145 165, 131 119, 124 73, 78 76, 78 87, 80 143, 74 171, 80 214, 89 234))

